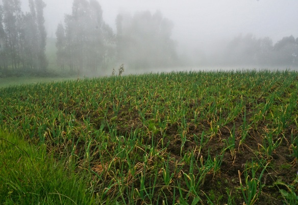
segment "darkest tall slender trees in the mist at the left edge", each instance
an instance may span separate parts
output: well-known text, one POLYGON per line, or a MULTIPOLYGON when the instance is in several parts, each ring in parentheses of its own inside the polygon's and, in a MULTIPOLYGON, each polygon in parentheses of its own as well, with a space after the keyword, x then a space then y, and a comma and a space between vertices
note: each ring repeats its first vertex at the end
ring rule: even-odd
POLYGON ((20 0, 0 5, 0 71, 44 72, 46 31, 42 0, 29 0, 30 11, 21 11, 20 0))

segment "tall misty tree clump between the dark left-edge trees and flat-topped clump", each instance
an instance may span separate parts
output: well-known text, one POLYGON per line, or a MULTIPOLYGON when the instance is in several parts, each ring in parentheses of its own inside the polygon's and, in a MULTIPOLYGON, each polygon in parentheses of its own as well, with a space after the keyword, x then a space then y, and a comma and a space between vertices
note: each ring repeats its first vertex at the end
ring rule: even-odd
MULTIPOLYGON (((100 4, 95 0, 74 0, 72 13, 65 15, 64 22, 65 48, 59 48, 59 52, 65 51, 65 63, 70 69, 94 72, 104 68, 113 32, 103 21, 100 4)), ((62 36, 61 29, 58 26, 56 34, 62 36)))

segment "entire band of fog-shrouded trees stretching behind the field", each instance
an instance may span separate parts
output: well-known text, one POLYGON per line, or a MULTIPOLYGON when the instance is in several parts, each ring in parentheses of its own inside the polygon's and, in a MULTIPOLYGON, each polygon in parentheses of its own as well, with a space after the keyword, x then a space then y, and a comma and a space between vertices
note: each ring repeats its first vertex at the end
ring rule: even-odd
POLYGON ((298 38, 292 35, 276 43, 269 37, 239 35, 218 45, 208 58, 195 54, 191 59, 179 55, 178 42, 171 37, 174 24, 160 11, 119 12, 114 31, 96 0, 73 1, 71 13, 57 26, 55 63, 49 63, 43 0, 28 0, 28 12, 21 10, 20 0, 2 2, 0 77, 48 75, 55 69, 100 75, 122 63, 135 70, 190 64, 298 66, 298 38))

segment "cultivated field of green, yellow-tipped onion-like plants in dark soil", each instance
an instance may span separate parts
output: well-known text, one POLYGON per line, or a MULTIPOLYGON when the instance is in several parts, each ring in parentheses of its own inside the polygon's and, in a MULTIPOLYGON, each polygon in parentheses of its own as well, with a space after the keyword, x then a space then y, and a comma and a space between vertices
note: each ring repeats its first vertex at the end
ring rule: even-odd
MULTIPOLYGON (((78 190, 90 193, 89 204, 296 204, 297 93, 293 71, 11 86, 0 89, 0 127, 37 145, 37 152, 53 158, 49 164, 62 164, 69 181, 81 176, 85 187, 78 190)), ((46 203, 54 196, 55 204, 86 202, 69 190, 35 189, 34 177, 19 179, 21 167, 9 171, 1 162, 7 146, 17 144, 0 138, 0 203, 26 197, 46 203)), ((14 153, 16 167, 28 158, 14 153)), ((37 161, 29 157, 27 167, 37 161)))

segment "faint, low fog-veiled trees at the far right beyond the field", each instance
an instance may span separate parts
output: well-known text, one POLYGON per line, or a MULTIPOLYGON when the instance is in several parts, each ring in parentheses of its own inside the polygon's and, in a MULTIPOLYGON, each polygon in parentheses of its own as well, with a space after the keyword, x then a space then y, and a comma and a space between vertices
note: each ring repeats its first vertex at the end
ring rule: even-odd
POLYGON ((298 66, 298 38, 292 35, 273 43, 269 37, 239 35, 230 41, 222 53, 213 56, 227 65, 298 66))

